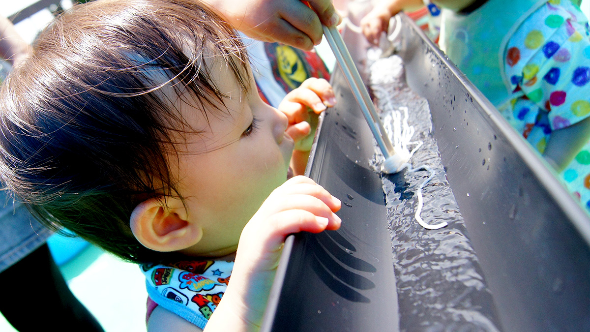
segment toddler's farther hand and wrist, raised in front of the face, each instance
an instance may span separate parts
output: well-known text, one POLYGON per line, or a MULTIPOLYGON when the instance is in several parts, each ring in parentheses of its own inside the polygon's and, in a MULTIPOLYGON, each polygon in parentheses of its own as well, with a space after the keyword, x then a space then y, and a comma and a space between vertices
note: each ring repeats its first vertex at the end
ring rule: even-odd
POLYGON ((278 105, 278 110, 289 119, 289 134, 295 141, 291 169, 294 175, 303 175, 312 149, 317 118, 326 106, 336 104, 332 86, 324 79, 307 79, 297 89, 291 91, 278 105), (313 112, 310 112, 312 110, 313 112))

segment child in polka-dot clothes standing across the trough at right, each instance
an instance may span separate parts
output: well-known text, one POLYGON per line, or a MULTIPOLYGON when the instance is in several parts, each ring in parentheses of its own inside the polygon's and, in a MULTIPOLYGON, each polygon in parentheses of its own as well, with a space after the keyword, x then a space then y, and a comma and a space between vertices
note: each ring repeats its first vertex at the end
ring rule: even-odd
MULTIPOLYGON (((374 41, 402 9, 362 21, 374 41)), ((590 211, 590 27, 579 0, 437 0, 440 47, 590 211)))

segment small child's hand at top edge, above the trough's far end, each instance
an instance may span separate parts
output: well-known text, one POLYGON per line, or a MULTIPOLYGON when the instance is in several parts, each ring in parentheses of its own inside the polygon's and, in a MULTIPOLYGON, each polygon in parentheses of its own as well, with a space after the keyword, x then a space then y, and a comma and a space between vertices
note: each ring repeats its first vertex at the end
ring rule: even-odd
POLYGON ((379 37, 383 32, 387 33, 389 19, 401 11, 412 11, 424 6, 423 0, 389 0, 379 2, 372 10, 360 20, 360 28, 363 34, 374 45, 379 44, 379 37))

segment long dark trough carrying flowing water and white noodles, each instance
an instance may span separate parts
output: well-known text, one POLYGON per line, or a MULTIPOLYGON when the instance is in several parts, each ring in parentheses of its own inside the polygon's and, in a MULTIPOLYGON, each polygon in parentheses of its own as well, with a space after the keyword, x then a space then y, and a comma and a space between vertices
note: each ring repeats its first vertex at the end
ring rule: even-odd
POLYGON ((336 71, 339 103, 320 119, 307 174, 343 201, 342 228, 287 238, 263 330, 590 331, 588 214, 411 19, 399 19, 405 83, 427 100, 422 138, 435 147, 435 158, 415 158, 439 170, 425 201, 452 190, 427 217, 449 226, 413 223, 421 176, 373 171, 376 145, 336 71), (423 255, 407 264, 410 253, 423 255))

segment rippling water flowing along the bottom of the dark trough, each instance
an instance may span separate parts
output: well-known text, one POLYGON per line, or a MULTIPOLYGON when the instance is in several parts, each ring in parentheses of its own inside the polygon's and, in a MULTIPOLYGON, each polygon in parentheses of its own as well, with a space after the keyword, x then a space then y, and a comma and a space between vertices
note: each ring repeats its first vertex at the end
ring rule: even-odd
POLYGON ((402 107, 409 109, 408 123, 415 129, 412 141, 423 142, 411 164, 414 168, 427 164, 434 170, 434 177, 422 189, 422 219, 428 224, 448 223, 441 229, 428 230, 415 219, 417 190, 429 176, 428 171, 403 170, 382 176, 401 331, 501 330, 493 298, 432 136, 427 101, 405 84, 401 58, 376 60, 369 72, 371 90, 382 115, 402 107))

